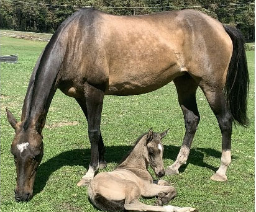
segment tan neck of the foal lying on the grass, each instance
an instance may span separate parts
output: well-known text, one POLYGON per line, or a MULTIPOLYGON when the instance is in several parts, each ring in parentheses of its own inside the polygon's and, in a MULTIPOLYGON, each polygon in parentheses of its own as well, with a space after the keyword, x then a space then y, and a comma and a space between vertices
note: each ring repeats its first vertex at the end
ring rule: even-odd
POLYGON ((147 145, 144 137, 135 145, 134 149, 130 152, 129 156, 126 157, 124 162, 117 167, 147 170, 149 167, 149 161, 145 152, 147 145))

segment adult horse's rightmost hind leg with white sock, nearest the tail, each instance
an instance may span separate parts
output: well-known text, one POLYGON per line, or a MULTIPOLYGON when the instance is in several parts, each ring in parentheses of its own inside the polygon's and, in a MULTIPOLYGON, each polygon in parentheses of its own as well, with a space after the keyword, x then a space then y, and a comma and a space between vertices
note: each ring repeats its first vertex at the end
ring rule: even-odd
POLYGON ((232 133, 232 115, 227 105, 226 97, 222 90, 214 91, 209 89, 205 85, 202 87, 204 94, 209 102, 214 115, 219 122, 219 128, 222 135, 222 154, 221 154, 221 166, 217 170, 211 179, 216 181, 227 180, 227 167, 231 163, 231 133, 232 133))

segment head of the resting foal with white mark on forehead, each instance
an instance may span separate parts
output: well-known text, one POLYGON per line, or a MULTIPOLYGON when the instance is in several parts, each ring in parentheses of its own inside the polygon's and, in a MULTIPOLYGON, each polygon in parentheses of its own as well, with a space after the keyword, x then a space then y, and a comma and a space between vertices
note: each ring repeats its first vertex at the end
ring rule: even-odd
POLYGON ((161 139, 167 135, 168 131, 169 129, 163 133, 153 133, 152 129, 150 129, 147 134, 147 159, 157 177, 163 177, 165 175, 161 139))

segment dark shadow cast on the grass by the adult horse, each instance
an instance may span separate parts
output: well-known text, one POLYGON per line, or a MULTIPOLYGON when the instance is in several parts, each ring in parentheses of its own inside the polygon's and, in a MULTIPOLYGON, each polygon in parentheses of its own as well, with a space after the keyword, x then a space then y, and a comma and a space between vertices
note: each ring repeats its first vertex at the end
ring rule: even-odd
MULTIPOLYGON (((122 157, 126 155, 126 152, 129 151, 130 148, 131 146, 106 147, 106 161, 118 163, 121 161, 122 157)), ((179 151, 179 146, 165 146, 165 153, 163 157, 165 159, 175 161, 179 151)), ((40 164, 34 184, 34 195, 40 193, 45 187, 50 175, 55 172, 55 170, 58 170, 63 166, 84 166, 87 169, 89 166, 90 152, 90 149, 73 149, 71 151, 62 152, 57 156, 52 157, 48 161, 40 164)), ((216 167, 204 162, 205 155, 221 158, 221 152, 216 151, 215 149, 191 149, 188 161, 186 165, 181 166, 180 172, 184 172, 186 166, 188 166, 190 163, 194 164, 195 166, 206 167, 216 172, 216 167)), ((167 165, 170 166, 171 164, 166 164, 165 166, 167 165)))

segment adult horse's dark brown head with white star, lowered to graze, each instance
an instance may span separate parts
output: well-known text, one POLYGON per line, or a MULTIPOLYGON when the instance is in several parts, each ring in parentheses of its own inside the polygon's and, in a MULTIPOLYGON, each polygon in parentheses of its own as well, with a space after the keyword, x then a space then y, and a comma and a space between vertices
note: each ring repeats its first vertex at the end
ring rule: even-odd
POLYGON ((15 130, 11 144, 17 174, 17 186, 14 190, 16 201, 28 201, 32 198, 37 167, 43 157, 43 142, 37 124, 24 128, 23 122, 17 122, 9 110, 7 119, 15 130))

